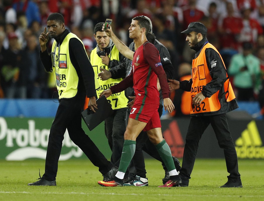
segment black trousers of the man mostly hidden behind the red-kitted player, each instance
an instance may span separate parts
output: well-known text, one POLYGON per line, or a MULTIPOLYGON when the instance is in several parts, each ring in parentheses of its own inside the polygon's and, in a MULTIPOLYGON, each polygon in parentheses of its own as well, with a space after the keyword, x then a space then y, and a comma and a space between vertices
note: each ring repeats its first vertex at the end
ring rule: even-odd
MULTIPOLYGON (((158 112, 161 116, 162 114, 162 105, 160 105, 158 112)), ((129 114, 130 114, 130 109, 127 110, 126 113, 126 121, 128 122, 129 114)), ((156 147, 152 142, 149 141, 148 134, 145 131, 142 131, 138 137, 136 138, 136 149, 135 149, 135 154, 134 157, 131 160, 131 163, 128 167, 129 169, 129 176, 135 176, 138 175, 142 178, 146 178, 146 169, 145 169, 145 160, 144 160, 144 155, 143 151, 145 151, 148 155, 151 157, 155 158, 158 161, 163 162, 161 156, 159 155, 156 147)))

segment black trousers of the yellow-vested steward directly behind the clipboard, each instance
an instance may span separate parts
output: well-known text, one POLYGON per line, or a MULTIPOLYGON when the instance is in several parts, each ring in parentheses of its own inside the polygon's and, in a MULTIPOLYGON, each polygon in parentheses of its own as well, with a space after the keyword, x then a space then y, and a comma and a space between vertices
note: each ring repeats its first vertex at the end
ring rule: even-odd
POLYGON ((126 131, 126 107, 114 110, 114 113, 105 119, 105 135, 112 150, 111 162, 119 166, 124 146, 126 131))

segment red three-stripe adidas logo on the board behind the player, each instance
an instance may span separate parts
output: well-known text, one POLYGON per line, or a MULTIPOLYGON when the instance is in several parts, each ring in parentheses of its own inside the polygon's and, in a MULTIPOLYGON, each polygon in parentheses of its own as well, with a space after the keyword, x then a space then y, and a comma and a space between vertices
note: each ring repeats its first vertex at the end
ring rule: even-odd
POLYGON ((182 158, 185 143, 183 142, 177 121, 173 120, 169 124, 169 128, 167 128, 162 134, 171 148, 172 156, 175 156, 176 158, 182 158))

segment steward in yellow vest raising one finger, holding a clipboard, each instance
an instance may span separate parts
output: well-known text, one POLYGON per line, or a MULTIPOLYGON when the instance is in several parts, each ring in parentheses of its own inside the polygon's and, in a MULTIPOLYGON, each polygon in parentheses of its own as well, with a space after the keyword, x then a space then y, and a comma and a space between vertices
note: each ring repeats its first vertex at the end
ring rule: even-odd
POLYGON ((65 29, 64 18, 59 13, 52 13, 47 18, 46 27, 39 36, 40 58, 47 72, 53 72, 59 93, 59 106, 52 123, 47 147, 45 174, 39 181, 29 183, 32 186, 55 186, 58 160, 66 128, 70 139, 82 149, 90 161, 103 175, 115 175, 117 167, 113 166, 99 151, 93 141, 81 127, 81 110, 85 96, 89 97, 88 108, 95 112, 96 88, 95 73, 89 62, 82 41, 65 29), (46 43, 48 34, 54 38, 51 55, 46 43))

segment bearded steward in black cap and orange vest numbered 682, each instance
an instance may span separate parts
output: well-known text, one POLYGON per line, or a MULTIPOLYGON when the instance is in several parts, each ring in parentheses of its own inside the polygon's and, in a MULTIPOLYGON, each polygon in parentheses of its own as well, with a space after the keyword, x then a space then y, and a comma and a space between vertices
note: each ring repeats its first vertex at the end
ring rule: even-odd
POLYGON ((209 124, 214 129, 219 147, 224 149, 228 181, 220 187, 242 187, 238 172, 237 152, 229 132, 226 113, 238 108, 225 64, 218 50, 206 39, 207 29, 200 22, 191 22, 186 41, 196 51, 192 59, 192 78, 169 80, 170 90, 181 88, 191 92, 191 120, 186 135, 180 177, 188 186, 202 134, 209 124))

